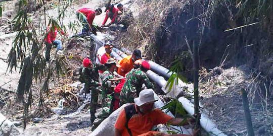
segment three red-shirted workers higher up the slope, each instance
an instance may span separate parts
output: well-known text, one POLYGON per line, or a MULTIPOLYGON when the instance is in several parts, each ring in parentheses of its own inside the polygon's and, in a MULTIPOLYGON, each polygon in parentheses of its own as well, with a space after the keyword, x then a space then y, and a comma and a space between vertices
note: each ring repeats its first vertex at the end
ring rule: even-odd
MULTIPOLYGON (((130 25, 130 23, 134 20, 132 12, 123 7, 122 4, 118 4, 116 7, 111 4, 107 4, 105 7, 106 16, 105 19, 101 25, 101 27, 109 27, 112 24, 122 24, 123 29, 127 29, 127 27, 130 25), (108 19, 111 19, 111 22, 107 25, 106 22, 108 19)), ((96 16, 102 14, 102 9, 97 8, 96 10, 90 9, 90 8, 81 8, 76 11, 77 19, 82 24, 82 30, 81 34, 82 36, 88 36, 90 33, 96 34, 96 32, 99 30, 99 26, 93 24, 93 21, 96 16)), ((56 51, 62 50, 62 41, 56 39, 57 33, 60 32, 62 35, 66 35, 60 27, 57 27, 55 25, 49 24, 47 27, 47 36, 44 39, 44 44, 46 45, 45 50, 45 60, 49 61, 50 59, 50 52, 52 49, 52 46, 56 48, 56 51)))

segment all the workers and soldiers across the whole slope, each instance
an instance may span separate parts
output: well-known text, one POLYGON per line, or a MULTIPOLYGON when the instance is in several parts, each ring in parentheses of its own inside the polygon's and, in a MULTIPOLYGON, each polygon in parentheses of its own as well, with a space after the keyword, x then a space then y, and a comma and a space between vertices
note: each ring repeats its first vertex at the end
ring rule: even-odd
MULTIPOLYGON (((133 20, 130 10, 123 8, 122 4, 118 4, 117 7, 107 4, 105 12, 106 17, 102 27, 122 24, 124 28, 127 28, 133 20), (111 22, 106 25, 108 18, 111 22)), ((81 34, 88 35, 96 31, 93 21, 101 13, 101 8, 77 10, 76 16, 83 25, 81 34)), ((56 40, 58 31, 65 35, 57 27, 47 30, 46 61, 50 59, 52 45, 55 45, 57 50, 62 50, 61 41, 56 40)), ((132 55, 117 61, 111 56, 113 44, 105 42, 104 48, 105 53, 97 56, 99 63, 89 58, 84 58, 82 61, 81 75, 85 83, 85 94, 90 93, 91 96, 90 122, 94 125, 93 127, 96 128, 102 120, 123 104, 131 103, 121 110, 115 123, 115 135, 186 135, 152 131, 152 127, 157 124, 183 125, 191 122, 192 119, 183 121, 184 119, 170 117, 160 109, 154 108, 154 103, 157 101, 153 92, 154 85, 146 75, 146 72, 150 70, 150 64, 142 59, 141 51, 135 49, 132 55), (98 104, 99 98, 101 104, 98 104), (99 105, 102 107, 102 114, 98 116, 98 123, 95 125, 95 113, 99 105)))

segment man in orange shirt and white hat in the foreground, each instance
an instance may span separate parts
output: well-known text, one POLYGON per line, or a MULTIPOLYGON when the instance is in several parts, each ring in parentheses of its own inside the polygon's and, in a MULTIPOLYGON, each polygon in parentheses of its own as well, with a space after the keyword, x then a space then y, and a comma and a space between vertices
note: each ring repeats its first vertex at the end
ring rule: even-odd
MULTIPOLYGON (((154 103, 157 100, 152 89, 142 90, 140 96, 133 99, 134 103, 124 107, 120 112, 115 123, 115 136, 190 136, 151 131, 152 127, 157 124, 184 125, 194 120, 173 118, 160 109, 154 109, 154 103)), ((195 136, 196 132, 193 135, 195 136)))

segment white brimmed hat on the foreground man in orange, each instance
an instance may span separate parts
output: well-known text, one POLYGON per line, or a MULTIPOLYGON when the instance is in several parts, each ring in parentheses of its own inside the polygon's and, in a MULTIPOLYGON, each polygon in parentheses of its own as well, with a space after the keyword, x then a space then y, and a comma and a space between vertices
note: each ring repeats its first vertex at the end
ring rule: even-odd
POLYGON ((158 99, 156 99, 154 96, 153 89, 144 89, 140 92, 140 97, 133 99, 134 103, 138 106, 149 102, 155 102, 157 100, 158 99))

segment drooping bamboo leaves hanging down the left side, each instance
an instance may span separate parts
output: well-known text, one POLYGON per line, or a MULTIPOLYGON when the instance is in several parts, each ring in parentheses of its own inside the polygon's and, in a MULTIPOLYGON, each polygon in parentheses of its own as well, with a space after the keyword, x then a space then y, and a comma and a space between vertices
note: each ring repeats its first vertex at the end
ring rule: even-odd
MULTIPOLYGON (((19 1, 18 12, 13 19, 13 21, 15 22, 14 29, 17 30, 18 33, 13 41, 13 47, 11 48, 8 55, 7 71, 9 70, 9 72, 12 72, 13 69, 16 70, 17 64, 19 63, 19 61, 21 62, 21 76, 17 87, 16 101, 24 103, 24 129, 27 123, 28 111, 30 106, 32 105, 33 98, 31 86, 33 79, 39 82, 44 79, 44 83, 42 84, 42 88, 40 89, 39 97, 39 108, 41 108, 40 106, 43 106, 42 95, 49 92, 49 81, 51 76, 53 75, 52 71, 56 70, 59 75, 64 75, 64 73, 66 72, 65 66, 67 65, 67 63, 65 57, 59 57, 56 59, 56 69, 53 69, 53 67, 51 67, 51 63, 50 66, 47 66, 43 57, 43 42, 50 30, 55 31, 55 28, 57 28, 59 33, 62 32, 62 29, 66 30, 65 26, 62 25, 61 20, 63 20, 65 16, 65 11, 67 10, 68 6, 71 5, 71 3, 72 1, 70 0, 64 1, 62 9, 60 9, 60 6, 58 6, 59 16, 57 20, 59 21, 59 23, 58 21, 56 21, 56 19, 50 18, 48 24, 44 23, 44 26, 48 26, 47 31, 42 30, 42 35, 39 35, 39 33, 36 33, 37 30, 35 29, 32 19, 30 18, 31 14, 27 13, 27 1, 19 1), (24 98, 27 98, 27 101, 25 101, 24 98)), ((46 16, 46 12, 43 13, 44 16, 46 16)))

